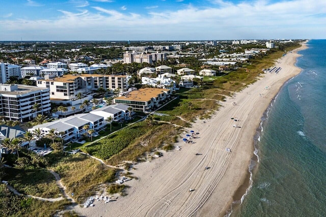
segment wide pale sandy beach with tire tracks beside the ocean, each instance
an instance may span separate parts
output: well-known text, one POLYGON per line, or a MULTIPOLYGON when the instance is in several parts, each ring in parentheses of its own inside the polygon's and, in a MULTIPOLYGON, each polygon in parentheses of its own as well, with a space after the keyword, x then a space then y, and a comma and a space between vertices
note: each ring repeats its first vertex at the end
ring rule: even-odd
POLYGON ((275 66, 281 69, 277 74, 262 74, 257 82, 221 102, 211 119, 197 120, 175 144, 180 150, 161 151, 163 157, 135 165, 130 172, 138 179, 125 183, 130 187, 127 196, 109 203, 95 201, 94 207, 78 206, 75 211, 82 216, 225 215, 234 196, 239 199, 248 187, 248 166, 260 118, 282 85, 300 73, 294 63, 297 51, 305 48, 304 44, 278 59, 275 66), (184 143, 182 138, 190 130, 198 138, 184 143), (244 188, 238 191, 241 186, 244 188))

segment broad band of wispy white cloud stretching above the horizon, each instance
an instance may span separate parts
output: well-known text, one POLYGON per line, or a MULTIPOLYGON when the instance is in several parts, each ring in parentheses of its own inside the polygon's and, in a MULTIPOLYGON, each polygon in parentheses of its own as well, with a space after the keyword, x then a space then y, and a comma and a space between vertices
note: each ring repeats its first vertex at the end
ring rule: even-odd
POLYGON ((207 8, 185 6, 147 14, 93 8, 95 12, 60 10, 63 15, 53 20, 0 20, 5 33, 0 41, 13 40, 17 33, 24 34, 26 40, 28 36, 39 37, 29 40, 326 38, 326 16, 322 16, 326 14, 326 1, 233 4, 219 0, 207 8))

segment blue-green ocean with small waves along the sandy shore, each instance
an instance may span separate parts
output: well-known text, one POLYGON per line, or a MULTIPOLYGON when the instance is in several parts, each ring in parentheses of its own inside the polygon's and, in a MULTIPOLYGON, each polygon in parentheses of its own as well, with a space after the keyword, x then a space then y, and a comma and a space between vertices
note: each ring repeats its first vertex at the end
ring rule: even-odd
POLYGON ((326 216, 326 40, 307 45, 262 117, 251 187, 231 216, 326 216))

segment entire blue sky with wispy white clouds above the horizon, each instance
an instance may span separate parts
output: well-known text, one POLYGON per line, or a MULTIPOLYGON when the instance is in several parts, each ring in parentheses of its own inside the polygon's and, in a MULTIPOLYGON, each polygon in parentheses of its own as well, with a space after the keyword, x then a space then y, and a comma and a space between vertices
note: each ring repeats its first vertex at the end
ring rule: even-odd
POLYGON ((326 39, 324 0, 2 0, 0 41, 326 39))

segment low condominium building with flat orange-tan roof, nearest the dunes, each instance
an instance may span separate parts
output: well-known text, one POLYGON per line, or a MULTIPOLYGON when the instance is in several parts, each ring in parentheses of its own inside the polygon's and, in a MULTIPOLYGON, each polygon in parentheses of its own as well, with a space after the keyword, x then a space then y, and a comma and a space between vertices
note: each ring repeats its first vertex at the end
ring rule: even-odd
POLYGON ((147 112, 170 100, 171 93, 171 89, 142 88, 114 98, 113 101, 115 104, 130 106, 134 111, 147 112))

